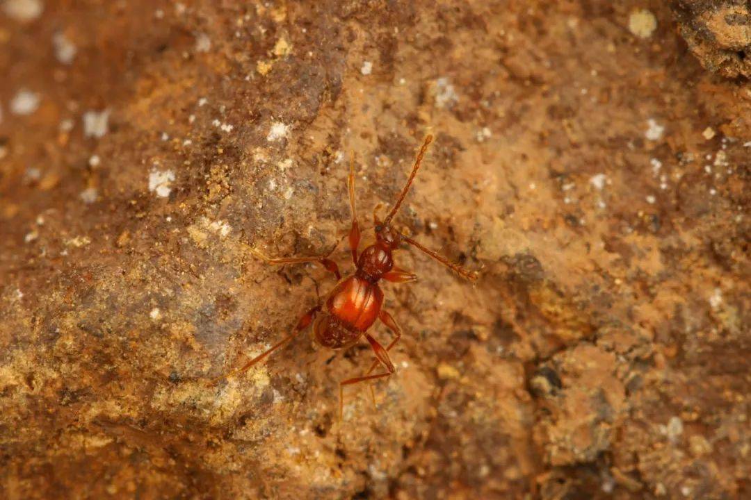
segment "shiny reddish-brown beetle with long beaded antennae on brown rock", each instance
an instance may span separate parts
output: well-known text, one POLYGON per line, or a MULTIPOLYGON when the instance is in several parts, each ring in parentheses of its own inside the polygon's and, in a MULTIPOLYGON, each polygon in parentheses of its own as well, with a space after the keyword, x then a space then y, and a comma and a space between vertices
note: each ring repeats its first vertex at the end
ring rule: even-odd
MULTIPOLYGON (((375 243, 366 247, 366 249, 360 253, 359 257, 357 256, 357 247, 360 244, 360 226, 357 224, 357 211, 354 206, 354 156, 352 157, 349 166, 347 184, 349 189, 349 206, 352 213, 352 225, 349 230, 349 248, 352 253, 352 262, 354 262, 354 265, 357 268, 356 271, 354 271, 354 274, 342 279, 342 275, 339 274, 339 267, 336 265, 336 262, 328 259, 328 255, 321 257, 285 257, 281 259, 271 259, 255 248, 251 249, 254 256, 267 262, 267 264, 283 265, 302 262, 318 262, 328 271, 336 275, 338 283, 336 283, 334 289, 329 295, 327 295, 324 305, 319 304, 305 313, 303 317, 300 318, 300 321, 297 322, 297 326, 291 334, 271 346, 266 352, 248 361, 243 367, 228 373, 227 376, 237 375, 238 373, 243 373, 246 370, 249 370, 250 367, 292 340, 300 333, 300 331, 307 328, 313 322, 314 318, 315 323, 313 324, 313 335, 315 341, 321 346, 330 349, 344 349, 353 346, 358 340, 360 340, 360 337, 364 336, 375 353, 375 361, 372 362, 369 370, 364 375, 339 382, 339 417, 341 418, 343 404, 342 396, 345 385, 382 379, 390 376, 396 371, 394 364, 388 356, 388 352, 399 341, 402 336, 402 331, 391 314, 382 308, 383 292, 378 285, 378 282, 379 280, 386 280, 391 281, 392 283, 406 283, 408 281, 414 281, 417 277, 415 274, 394 265, 394 250, 397 250, 402 243, 410 244, 413 247, 418 248, 418 250, 427 253, 427 255, 436 259, 438 262, 441 262, 461 277, 469 280, 477 279, 477 272, 467 271, 460 265, 450 262, 444 256, 439 255, 433 250, 429 250, 412 238, 398 232, 391 226, 391 220, 394 219, 394 215, 397 214, 404 198, 407 196, 409 187, 412 186, 412 181, 415 180, 415 175, 418 173, 420 163, 422 162, 427 147, 432 140, 433 136, 425 137, 420 152, 415 159, 415 165, 412 167, 412 173, 409 175, 409 179, 407 179, 404 189, 397 198, 397 202, 394 203, 394 208, 391 208, 391 211, 388 213, 385 220, 379 220, 376 214, 377 208, 376 211, 374 211, 373 221, 375 223, 375 243), (318 315, 317 318, 315 317, 316 315, 318 315), (372 335, 367 332, 368 328, 375 323, 376 319, 380 319, 392 332, 394 332, 394 339, 391 340, 391 343, 386 347, 382 346, 378 340, 375 340, 372 335), (383 365, 385 372, 371 375, 372 371, 375 370, 375 367, 377 367, 379 363, 383 365)), ((220 377, 219 379, 222 378, 224 377, 220 377)), ((214 382, 216 382, 216 380, 214 382)))

